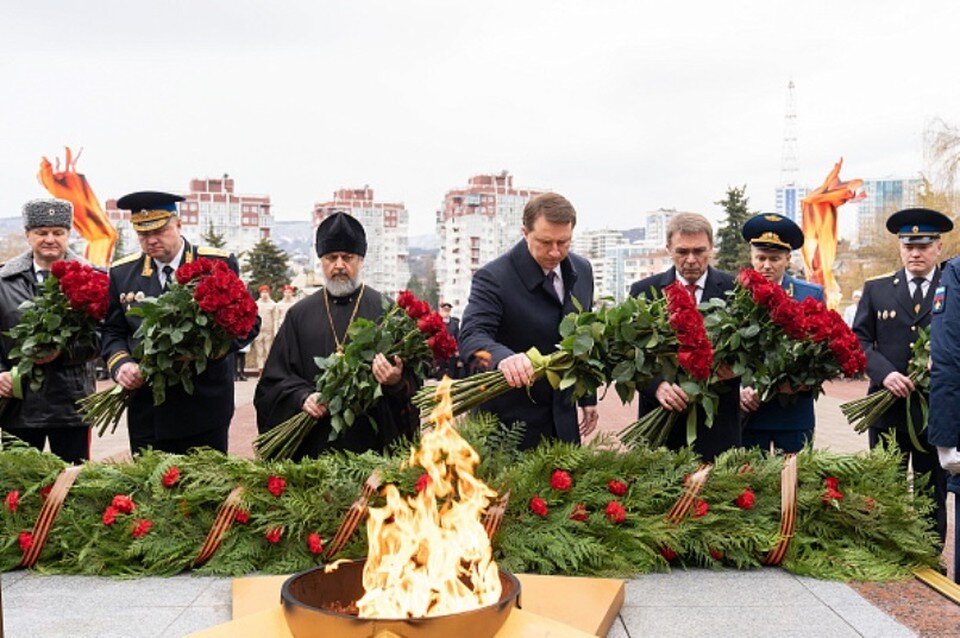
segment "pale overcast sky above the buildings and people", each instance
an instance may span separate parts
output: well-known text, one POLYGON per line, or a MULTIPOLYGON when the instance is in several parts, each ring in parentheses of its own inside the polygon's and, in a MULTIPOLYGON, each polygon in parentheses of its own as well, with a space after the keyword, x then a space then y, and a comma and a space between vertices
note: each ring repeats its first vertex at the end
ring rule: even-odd
MULTIPOLYGON (((341 187, 433 231, 444 193, 507 169, 578 227, 658 207, 772 210, 786 85, 801 181, 912 177, 960 123, 956 2, 0 4, 0 216, 83 147, 101 201, 229 173, 308 219, 341 187)), ((841 217, 842 217, 841 209, 841 217)))

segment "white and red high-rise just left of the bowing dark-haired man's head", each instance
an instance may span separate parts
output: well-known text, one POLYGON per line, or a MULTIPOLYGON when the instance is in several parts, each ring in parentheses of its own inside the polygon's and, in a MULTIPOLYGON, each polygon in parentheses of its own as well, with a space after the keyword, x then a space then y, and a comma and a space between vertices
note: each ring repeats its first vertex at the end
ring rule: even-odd
POLYGON ((481 266, 499 257, 523 236, 523 208, 544 191, 514 187, 507 171, 475 175, 466 187, 447 191, 437 211, 437 285, 440 299, 460 313, 470 282, 481 266))

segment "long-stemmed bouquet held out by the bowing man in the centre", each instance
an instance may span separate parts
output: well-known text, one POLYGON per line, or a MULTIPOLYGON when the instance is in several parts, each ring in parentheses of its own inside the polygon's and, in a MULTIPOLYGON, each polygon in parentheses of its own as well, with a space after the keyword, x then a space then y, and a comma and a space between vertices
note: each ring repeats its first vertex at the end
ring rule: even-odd
MULTIPOLYGON (((556 389, 572 388, 573 401, 613 384, 620 399, 629 403, 637 389, 658 374, 675 376, 678 369, 704 374, 713 354, 704 341, 703 322, 696 308, 691 315, 671 302, 678 290, 688 300, 689 293, 679 286, 670 289, 667 298, 628 297, 617 305, 580 309, 564 317, 555 352, 543 355, 536 348, 526 352, 534 380, 546 377, 556 389)), ((450 388, 453 413, 463 414, 512 389, 499 370, 458 379, 450 388)), ((423 417, 436 403, 432 388, 414 398, 423 417)))

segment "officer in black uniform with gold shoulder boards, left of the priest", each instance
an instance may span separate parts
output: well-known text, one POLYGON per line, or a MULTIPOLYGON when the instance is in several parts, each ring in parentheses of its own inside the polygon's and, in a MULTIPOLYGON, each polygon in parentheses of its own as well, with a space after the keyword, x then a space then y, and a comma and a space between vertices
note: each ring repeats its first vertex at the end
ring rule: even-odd
MULTIPOLYGON (((227 451, 227 428, 233 417, 233 353, 208 362, 206 370, 194 381, 193 394, 183 386, 167 389, 166 400, 153 405, 150 388, 132 353, 139 317, 126 313, 131 305, 145 297, 157 297, 173 282, 182 263, 199 257, 220 259, 237 272, 236 258, 218 248, 193 246, 184 239, 177 216, 179 195, 143 191, 117 200, 117 206, 130 211, 130 222, 137 232, 143 252, 124 257, 110 269, 110 306, 103 328, 103 358, 113 379, 134 391, 127 411, 130 449, 134 453, 147 447, 173 453, 209 446, 227 451)), ((259 331, 259 321, 240 347, 259 331)))

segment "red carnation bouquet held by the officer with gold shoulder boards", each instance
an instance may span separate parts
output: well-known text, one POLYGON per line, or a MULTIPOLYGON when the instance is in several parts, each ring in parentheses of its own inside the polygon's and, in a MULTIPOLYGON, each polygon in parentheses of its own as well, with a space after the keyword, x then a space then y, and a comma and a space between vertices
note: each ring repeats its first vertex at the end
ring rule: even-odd
MULTIPOLYGON (((246 337, 257 321, 257 304, 226 262, 200 258, 177 268, 176 283, 156 299, 127 312, 143 318, 133 337, 133 356, 153 392, 154 405, 166 389, 182 385, 193 393, 207 362, 226 356, 234 340, 246 337)), ((80 411, 98 428, 116 429, 131 392, 121 386, 81 399, 80 411)))

